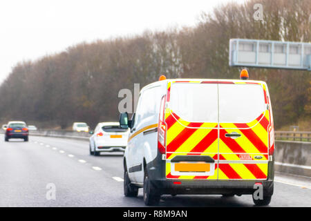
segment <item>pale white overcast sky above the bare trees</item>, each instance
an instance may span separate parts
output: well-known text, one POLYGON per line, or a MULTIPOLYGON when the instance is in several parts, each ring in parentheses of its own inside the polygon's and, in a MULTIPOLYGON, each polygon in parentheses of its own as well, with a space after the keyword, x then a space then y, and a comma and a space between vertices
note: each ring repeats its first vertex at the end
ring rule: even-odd
MULTIPOLYGON (((8 0, 0 3, 0 82, 17 62, 82 41, 194 26, 232 0, 8 0)), ((245 0, 233 0, 243 3, 245 0)))

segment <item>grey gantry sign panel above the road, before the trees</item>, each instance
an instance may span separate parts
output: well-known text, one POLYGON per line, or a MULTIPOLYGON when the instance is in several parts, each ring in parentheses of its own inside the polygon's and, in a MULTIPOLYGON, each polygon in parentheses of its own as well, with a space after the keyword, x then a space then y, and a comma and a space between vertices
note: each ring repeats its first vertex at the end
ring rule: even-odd
POLYGON ((229 66, 311 70, 311 44, 230 39, 229 66))

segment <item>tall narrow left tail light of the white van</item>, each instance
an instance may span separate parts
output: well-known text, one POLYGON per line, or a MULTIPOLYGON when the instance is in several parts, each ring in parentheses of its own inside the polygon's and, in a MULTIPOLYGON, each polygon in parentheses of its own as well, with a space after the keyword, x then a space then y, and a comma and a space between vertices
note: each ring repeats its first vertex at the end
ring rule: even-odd
POLYGON ((160 105, 159 122, 158 122, 158 149, 160 154, 165 153, 167 142, 167 124, 165 123, 165 100, 167 96, 163 96, 160 105))

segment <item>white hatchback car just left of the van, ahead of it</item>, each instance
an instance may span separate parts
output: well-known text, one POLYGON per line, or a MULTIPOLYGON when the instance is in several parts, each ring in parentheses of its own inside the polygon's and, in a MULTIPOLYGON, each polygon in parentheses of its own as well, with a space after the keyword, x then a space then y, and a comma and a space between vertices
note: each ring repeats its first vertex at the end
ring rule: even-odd
POLYGON ((120 128, 119 122, 102 122, 97 124, 90 137, 90 154, 100 152, 124 151, 129 138, 129 129, 120 128))

